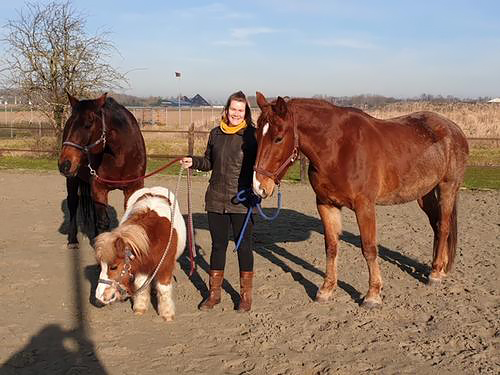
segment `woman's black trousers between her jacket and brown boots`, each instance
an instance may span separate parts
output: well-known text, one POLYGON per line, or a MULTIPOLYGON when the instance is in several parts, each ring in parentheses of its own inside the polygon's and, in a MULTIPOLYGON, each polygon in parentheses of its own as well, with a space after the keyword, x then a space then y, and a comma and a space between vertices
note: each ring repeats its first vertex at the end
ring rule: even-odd
MULTIPOLYGON (((212 253, 210 254, 210 269, 216 271, 224 270, 226 265, 226 250, 229 243, 229 228, 233 230, 233 238, 236 242, 240 236, 241 229, 245 223, 246 214, 219 214, 208 212, 208 229, 212 237, 212 253)), ((248 221, 245 235, 238 249, 238 263, 240 271, 253 271, 253 223, 248 221)))

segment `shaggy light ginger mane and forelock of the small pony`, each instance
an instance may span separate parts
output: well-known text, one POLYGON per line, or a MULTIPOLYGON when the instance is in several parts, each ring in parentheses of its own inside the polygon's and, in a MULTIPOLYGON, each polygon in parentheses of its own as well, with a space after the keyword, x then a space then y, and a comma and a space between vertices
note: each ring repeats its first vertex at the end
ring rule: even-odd
POLYGON ((132 254, 141 259, 149 252, 149 237, 141 225, 124 224, 112 232, 100 234, 95 241, 96 257, 109 263, 116 257, 115 241, 121 238, 130 247, 132 254))

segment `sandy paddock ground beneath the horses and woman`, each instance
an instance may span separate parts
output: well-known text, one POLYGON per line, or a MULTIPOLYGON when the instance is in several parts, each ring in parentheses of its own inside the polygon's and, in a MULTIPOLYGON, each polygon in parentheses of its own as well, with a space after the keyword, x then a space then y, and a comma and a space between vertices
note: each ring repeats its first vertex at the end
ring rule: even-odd
MULTIPOLYGON (((174 189, 175 178, 146 185, 174 189)), ((189 262, 180 259, 177 315, 166 323, 153 307, 138 317, 130 302, 93 306, 99 268, 87 238, 80 250, 66 249, 61 176, 0 171, 0 373, 500 372, 500 192, 461 193, 457 262, 438 287, 426 285, 432 236, 417 204, 379 207, 384 304, 366 310, 359 306, 368 275, 354 215, 343 211, 334 299, 314 303, 325 263, 314 194, 309 185, 284 184, 279 218, 257 220, 254 307, 238 314, 232 250, 222 303, 209 313, 197 310, 208 281, 206 185, 204 177, 193 182, 198 272, 188 278, 189 262)), ((179 199, 186 213, 184 186, 179 199)), ((120 217, 119 192, 111 204, 120 217)))

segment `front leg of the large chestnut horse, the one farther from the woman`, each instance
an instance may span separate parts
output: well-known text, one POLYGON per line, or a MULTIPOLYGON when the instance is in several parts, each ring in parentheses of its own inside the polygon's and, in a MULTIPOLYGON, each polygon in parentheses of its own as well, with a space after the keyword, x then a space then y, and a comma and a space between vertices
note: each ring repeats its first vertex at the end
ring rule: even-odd
POLYGON ((358 200, 355 204, 356 220, 361 234, 361 249, 368 265, 368 293, 363 299, 363 306, 377 307, 382 304, 380 292, 382 277, 377 260, 377 226, 375 204, 366 199, 358 200))

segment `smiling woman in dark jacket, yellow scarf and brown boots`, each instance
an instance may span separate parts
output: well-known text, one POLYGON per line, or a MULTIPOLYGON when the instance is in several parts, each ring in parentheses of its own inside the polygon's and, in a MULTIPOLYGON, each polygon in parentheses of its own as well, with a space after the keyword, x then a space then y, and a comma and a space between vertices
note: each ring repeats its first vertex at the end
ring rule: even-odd
MULTIPOLYGON (((212 171, 205 194, 205 210, 212 238, 210 254, 210 294, 199 308, 208 311, 220 303, 224 280, 229 229, 239 238, 247 207, 234 202, 242 189, 252 186, 253 165, 257 153, 255 128, 245 94, 232 94, 222 112, 220 125, 212 129, 204 156, 185 157, 184 168, 212 171)), ((240 266, 240 303, 238 312, 249 311, 252 306, 253 243, 252 222, 248 223, 238 249, 240 266)))

